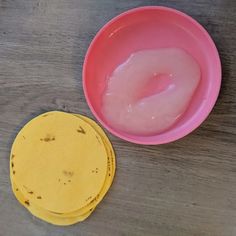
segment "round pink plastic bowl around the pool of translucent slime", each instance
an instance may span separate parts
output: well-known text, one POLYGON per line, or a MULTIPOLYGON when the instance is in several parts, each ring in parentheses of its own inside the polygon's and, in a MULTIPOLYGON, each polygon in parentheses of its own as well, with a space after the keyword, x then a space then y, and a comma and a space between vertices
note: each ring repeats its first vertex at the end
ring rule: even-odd
POLYGON ((113 18, 93 39, 83 67, 84 93, 95 117, 112 134, 139 144, 168 143, 192 132, 211 112, 220 85, 220 58, 207 31, 190 16, 167 7, 135 8, 113 18), (161 134, 136 136, 116 130, 101 113, 107 76, 131 53, 162 47, 183 48, 201 68, 201 82, 187 111, 161 134))

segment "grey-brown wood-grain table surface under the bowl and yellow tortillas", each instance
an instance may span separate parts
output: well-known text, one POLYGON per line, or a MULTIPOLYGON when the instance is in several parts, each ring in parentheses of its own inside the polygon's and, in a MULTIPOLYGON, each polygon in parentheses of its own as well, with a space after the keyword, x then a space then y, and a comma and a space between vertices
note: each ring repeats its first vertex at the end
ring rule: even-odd
POLYGON ((236 2, 0 0, 0 235, 236 235, 236 2), (198 20, 223 66, 218 102, 187 137, 141 146, 109 135, 117 153, 114 184, 85 222, 49 225, 14 198, 9 151, 25 122, 48 110, 92 117, 81 85, 85 52, 112 17, 165 5, 198 20))

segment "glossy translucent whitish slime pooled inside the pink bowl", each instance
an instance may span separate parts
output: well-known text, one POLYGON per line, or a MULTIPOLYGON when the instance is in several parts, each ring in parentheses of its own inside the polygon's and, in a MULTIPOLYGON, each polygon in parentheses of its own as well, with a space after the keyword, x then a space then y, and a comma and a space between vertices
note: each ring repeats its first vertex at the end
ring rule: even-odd
POLYGON ((182 49, 135 52, 108 78, 103 116, 129 134, 163 132, 187 109, 200 76, 197 62, 182 49))

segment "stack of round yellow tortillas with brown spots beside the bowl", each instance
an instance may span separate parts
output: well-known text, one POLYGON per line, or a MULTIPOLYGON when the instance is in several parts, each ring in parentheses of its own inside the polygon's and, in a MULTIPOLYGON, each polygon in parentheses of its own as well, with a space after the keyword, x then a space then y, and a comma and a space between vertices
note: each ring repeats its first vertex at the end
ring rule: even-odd
POLYGON ((86 219, 115 174, 115 154, 91 119, 65 112, 44 113, 18 133, 11 150, 10 177, 18 201, 33 215, 56 225, 86 219))

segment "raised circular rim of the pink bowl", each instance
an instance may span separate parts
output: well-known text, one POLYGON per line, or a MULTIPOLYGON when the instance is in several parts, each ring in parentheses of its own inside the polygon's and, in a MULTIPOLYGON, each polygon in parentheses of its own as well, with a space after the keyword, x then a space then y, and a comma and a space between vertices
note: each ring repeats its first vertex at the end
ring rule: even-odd
POLYGON ((91 41, 87 52, 85 54, 85 59, 84 59, 84 63, 83 63, 83 71, 82 71, 82 84, 83 84, 83 91, 84 91, 84 95, 85 95, 85 99, 87 101, 87 104, 90 108, 90 110, 92 111, 93 115, 95 116, 95 118, 99 121, 99 123, 105 128, 107 129, 111 134, 115 135, 116 137, 119 137, 122 140, 131 142, 131 143, 136 143, 136 144, 144 144, 144 145, 159 145, 159 144, 165 144, 165 143, 170 143, 173 141, 176 141, 178 139, 181 139, 183 137, 185 137, 186 135, 190 134, 191 132, 193 132, 196 128, 198 128, 204 120, 207 119, 207 117, 209 116, 209 114, 211 113, 217 98, 219 96, 219 92, 220 92, 220 88, 221 88, 221 80, 222 80, 222 68, 221 68, 221 61, 220 61, 220 56, 219 56, 219 52, 217 50, 217 47, 213 41, 213 39, 211 38, 210 34, 207 32, 207 30, 195 19, 193 19, 191 16, 187 15, 186 13, 176 10, 174 8, 170 8, 170 7, 165 7, 165 6, 142 6, 142 7, 136 7, 136 8, 132 8, 130 10, 127 10, 115 17, 113 17, 111 20, 109 20, 105 25, 102 26, 102 28, 100 30, 98 30, 98 32, 96 33, 96 35, 94 36, 93 40, 91 41), (207 101, 207 105, 205 105, 205 109, 202 109, 201 113, 198 115, 198 119, 195 120, 195 122, 192 122, 190 125, 188 125, 187 127, 183 128, 183 130, 181 130, 180 132, 177 132, 175 134, 171 134, 168 137, 159 139, 159 140, 155 140, 155 136, 157 135, 152 135, 152 136, 146 136, 147 138, 151 138, 153 137, 151 140, 149 139, 145 139, 143 137, 145 136, 139 136, 139 135, 133 135, 136 136, 137 139, 134 137, 127 137, 125 135, 122 135, 119 131, 116 131, 115 129, 113 129, 111 126, 107 125, 101 118, 100 116, 97 114, 97 112, 95 111, 95 109, 92 106, 92 103, 90 101, 90 98, 88 96, 88 92, 87 92, 87 86, 86 86, 86 66, 88 64, 88 60, 89 60, 89 56, 93 50, 94 45, 96 44, 97 39, 100 37, 100 35, 110 26, 112 25, 114 22, 116 22, 117 20, 119 20, 120 18, 132 14, 132 13, 137 13, 139 11, 144 11, 144 10, 157 10, 157 11, 168 11, 171 12, 173 14, 177 14, 180 15, 184 18, 186 18, 186 20, 190 21, 195 27, 197 27, 206 37, 208 43, 211 45, 211 47, 213 48, 213 50, 215 51, 215 57, 216 57, 216 65, 215 65, 215 70, 217 70, 216 75, 216 84, 214 86, 214 90, 211 93, 211 97, 210 99, 207 101), (139 137, 141 139, 139 139, 139 137))

